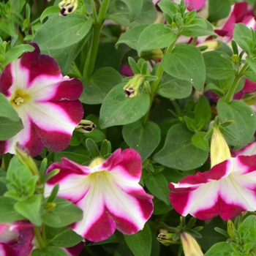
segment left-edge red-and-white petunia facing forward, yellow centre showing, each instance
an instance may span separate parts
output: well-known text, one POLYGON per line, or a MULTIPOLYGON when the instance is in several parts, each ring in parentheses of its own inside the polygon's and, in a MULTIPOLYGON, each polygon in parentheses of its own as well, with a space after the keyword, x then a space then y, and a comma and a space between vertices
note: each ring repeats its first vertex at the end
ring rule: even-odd
POLYGON ((78 97, 83 85, 78 79, 61 75, 57 62, 35 50, 5 67, 0 76, 0 92, 20 116, 24 128, 9 140, 0 141, 0 154, 15 154, 19 142, 32 157, 44 146, 52 151, 67 148, 72 132, 83 118, 78 97))

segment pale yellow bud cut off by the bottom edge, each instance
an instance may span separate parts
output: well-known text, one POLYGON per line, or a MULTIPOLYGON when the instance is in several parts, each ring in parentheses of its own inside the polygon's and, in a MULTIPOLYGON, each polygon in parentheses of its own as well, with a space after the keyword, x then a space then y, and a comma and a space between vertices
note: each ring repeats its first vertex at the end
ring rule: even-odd
POLYGON ((181 232, 181 242, 185 256, 203 256, 199 244, 189 233, 181 232))

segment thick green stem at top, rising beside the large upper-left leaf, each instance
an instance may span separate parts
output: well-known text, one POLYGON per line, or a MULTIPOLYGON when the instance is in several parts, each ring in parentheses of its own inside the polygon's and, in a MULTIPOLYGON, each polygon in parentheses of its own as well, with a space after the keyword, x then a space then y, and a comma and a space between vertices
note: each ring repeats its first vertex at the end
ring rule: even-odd
MULTIPOLYGON (((90 78, 92 73, 94 72, 94 64, 96 61, 97 51, 98 51, 98 45, 99 45, 99 36, 100 31, 102 29, 102 23, 105 20, 105 14, 108 9, 108 1, 109 0, 103 0, 102 5, 99 8, 99 15, 98 18, 96 16, 96 12, 93 12, 94 15, 94 29, 91 39, 91 47, 89 50, 89 54, 86 59, 86 64, 83 69, 83 75, 85 75, 86 78, 90 78)), ((95 9, 95 7, 94 7, 95 9)))

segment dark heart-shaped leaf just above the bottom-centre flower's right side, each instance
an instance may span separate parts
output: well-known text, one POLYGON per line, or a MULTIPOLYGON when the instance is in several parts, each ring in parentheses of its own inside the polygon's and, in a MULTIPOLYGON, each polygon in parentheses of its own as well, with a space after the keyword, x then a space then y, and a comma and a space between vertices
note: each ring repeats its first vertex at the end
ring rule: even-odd
POLYGON ((140 120, 125 125, 122 133, 128 146, 140 153, 142 161, 157 148, 161 138, 161 131, 157 124, 151 122, 142 124, 140 120))

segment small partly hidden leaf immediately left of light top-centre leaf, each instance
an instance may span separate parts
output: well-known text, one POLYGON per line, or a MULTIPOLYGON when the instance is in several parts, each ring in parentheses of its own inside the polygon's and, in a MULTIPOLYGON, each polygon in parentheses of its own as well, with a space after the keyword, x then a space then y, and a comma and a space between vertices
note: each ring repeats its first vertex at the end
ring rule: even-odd
POLYGON ((119 37, 118 41, 116 42, 116 48, 118 48, 118 45, 120 44, 126 44, 130 48, 137 50, 140 34, 144 29, 146 29, 147 26, 148 24, 142 24, 126 31, 121 35, 121 37, 119 37))

